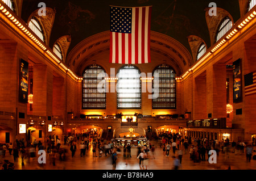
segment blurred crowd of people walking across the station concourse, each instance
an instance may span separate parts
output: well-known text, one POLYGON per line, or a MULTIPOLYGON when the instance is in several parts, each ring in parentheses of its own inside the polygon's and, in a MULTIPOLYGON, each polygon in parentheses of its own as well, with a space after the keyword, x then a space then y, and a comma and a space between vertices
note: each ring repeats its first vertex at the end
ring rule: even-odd
MULTIPOLYGON (((224 159, 229 159, 230 154, 243 154, 246 153, 246 161, 250 162, 255 150, 253 146, 245 144, 245 142, 230 142, 228 138, 225 140, 209 140, 208 138, 191 138, 181 137, 180 134, 162 134, 158 140, 154 141, 157 146, 163 150, 163 156, 173 159, 173 169, 179 169, 183 161, 183 155, 189 154, 189 161, 200 163, 208 161, 210 158, 209 151, 215 150, 217 156, 222 153, 224 159)), ((30 158, 36 157, 36 151, 45 150, 50 160, 50 164, 55 166, 56 159, 65 161, 67 153, 71 153, 71 159, 79 152, 79 157, 88 157, 89 151, 92 151, 92 157, 110 157, 112 158, 113 169, 116 168, 119 157, 123 156, 125 164, 130 164, 130 159, 138 159, 138 166, 143 169, 148 169, 148 160, 159 157, 159 153, 155 154, 155 145, 151 144, 148 140, 147 144, 139 146, 137 149, 137 157, 132 158, 131 144, 124 146, 117 145, 114 138, 112 140, 104 140, 100 137, 92 137, 92 134, 76 134, 66 136, 65 134, 59 138, 57 135, 49 135, 46 137, 46 142, 43 143, 39 140, 34 140, 32 143, 25 144, 24 139, 16 140, 13 143, 0 146, 0 157, 2 169, 6 169, 7 161, 4 159, 8 150, 10 155, 13 155, 14 163, 18 158, 22 158, 22 165, 24 159, 29 162, 30 158), (121 150, 122 149, 122 150, 121 150), (123 153, 122 153, 123 152, 123 153)), ((77 157, 77 156, 76 156, 77 157)), ((256 157, 256 155, 255 155, 256 157)), ((256 159, 253 157, 253 159, 256 159)))

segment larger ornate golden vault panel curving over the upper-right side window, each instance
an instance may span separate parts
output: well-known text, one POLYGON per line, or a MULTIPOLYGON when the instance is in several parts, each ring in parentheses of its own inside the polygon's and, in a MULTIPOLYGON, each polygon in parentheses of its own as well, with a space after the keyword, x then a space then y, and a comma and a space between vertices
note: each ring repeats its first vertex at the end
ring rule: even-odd
POLYGON ((216 43, 215 39, 217 35, 217 30, 218 27, 220 26, 222 19, 228 16, 232 20, 233 24, 234 20, 228 11, 221 9, 220 7, 217 7, 217 16, 210 16, 209 10, 209 7, 205 9, 205 19, 207 21, 207 26, 210 34, 210 45, 213 45, 214 43, 216 43))

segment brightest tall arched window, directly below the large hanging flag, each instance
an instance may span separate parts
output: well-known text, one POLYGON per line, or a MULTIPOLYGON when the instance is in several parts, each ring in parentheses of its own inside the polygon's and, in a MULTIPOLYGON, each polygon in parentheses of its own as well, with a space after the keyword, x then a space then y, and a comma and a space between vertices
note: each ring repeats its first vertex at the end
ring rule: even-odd
POLYGON ((117 109, 141 109, 141 71, 125 65, 118 71, 117 109))

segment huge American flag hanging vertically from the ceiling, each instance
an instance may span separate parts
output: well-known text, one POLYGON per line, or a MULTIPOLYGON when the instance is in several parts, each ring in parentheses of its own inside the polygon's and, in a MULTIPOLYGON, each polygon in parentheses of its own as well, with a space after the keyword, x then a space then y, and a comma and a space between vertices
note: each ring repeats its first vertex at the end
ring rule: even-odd
POLYGON ((151 6, 110 6, 110 63, 143 64, 150 59, 151 6))

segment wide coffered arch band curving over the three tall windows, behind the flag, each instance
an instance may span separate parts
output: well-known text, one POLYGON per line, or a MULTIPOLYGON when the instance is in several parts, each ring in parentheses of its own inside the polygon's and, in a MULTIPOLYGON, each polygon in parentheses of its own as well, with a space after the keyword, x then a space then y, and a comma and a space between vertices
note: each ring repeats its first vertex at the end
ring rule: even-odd
MULTIPOLYGON (((67 57, 69 69, 77 74, 82 69, 82 64, 98 53, 109 51, 110 33, 109 31, 93 35, 76 45, 67 57)), ((160 53, 167 60, 172 61, 177 74, 182 74, 193 64, 191 54, 177 40, 162 33, 151 31, 151 52, 160 53)))

